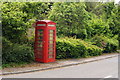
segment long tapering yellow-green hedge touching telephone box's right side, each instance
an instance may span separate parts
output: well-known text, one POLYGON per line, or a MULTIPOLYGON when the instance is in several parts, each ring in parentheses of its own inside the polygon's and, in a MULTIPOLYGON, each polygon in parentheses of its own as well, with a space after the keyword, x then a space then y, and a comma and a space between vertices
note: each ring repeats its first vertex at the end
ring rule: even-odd
POLYGON ((57 39, 57 58, 79 58, 97 56, 102 54, 102 49, 80 39, 57 39))

